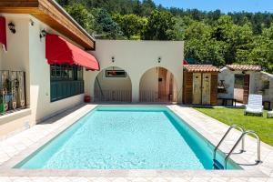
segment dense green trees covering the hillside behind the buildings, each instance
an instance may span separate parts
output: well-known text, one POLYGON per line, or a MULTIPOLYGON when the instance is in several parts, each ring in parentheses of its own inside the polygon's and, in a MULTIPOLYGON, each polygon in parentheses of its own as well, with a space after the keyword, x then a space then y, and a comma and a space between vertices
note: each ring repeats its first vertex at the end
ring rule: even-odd
POLYGON ((273 73, 273 14, 165 8, 152 0, 58 0, 97 39, 184 40, 196 64, 252 64, 273 73))

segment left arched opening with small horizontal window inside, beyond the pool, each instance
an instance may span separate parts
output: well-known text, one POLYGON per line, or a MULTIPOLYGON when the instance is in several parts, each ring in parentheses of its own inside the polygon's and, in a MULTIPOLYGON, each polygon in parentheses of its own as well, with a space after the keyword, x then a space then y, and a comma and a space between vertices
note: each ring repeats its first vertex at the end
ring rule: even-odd
POLYGON ((97 76, 94 86, 95 102, 132 102, 132 82, 120 67, 108 67, 97 76))

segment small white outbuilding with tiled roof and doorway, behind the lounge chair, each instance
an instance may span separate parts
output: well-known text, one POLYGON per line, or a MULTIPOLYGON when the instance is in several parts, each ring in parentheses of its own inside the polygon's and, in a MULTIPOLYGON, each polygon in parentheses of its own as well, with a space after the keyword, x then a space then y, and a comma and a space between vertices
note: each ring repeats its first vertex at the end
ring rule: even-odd
POLYGON ((263 95, 264 102, 273 104, 273 76, 259 66, 231 65, 218 75, 218 98, 234 98, 248 104, 249 94, 263 95))

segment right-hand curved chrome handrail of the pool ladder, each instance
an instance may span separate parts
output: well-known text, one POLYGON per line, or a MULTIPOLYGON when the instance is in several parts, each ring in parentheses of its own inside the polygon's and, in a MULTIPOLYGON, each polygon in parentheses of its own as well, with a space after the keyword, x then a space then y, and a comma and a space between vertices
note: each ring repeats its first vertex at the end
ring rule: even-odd
POLYGON ((238 146, 238 143, 242 140, 242 138, 244 138, 244 136, 248 135, 248 134, 252 134, 254 136, 256 136, 257 141, 258 141, 258 151, 257 151, 257 164, 261 162, 260 160, 260 138, 258 136, 258 134, 255 131, 245 131, 239 138, 238 141, 236 142, 236 144, 234 145, 234 147, 231 148, 230 152, 228 153, 227 157, 225 158, 225 168, 227 168, 227 159, 231 156, 232 152, 234 151, 234 149, 238 146))

